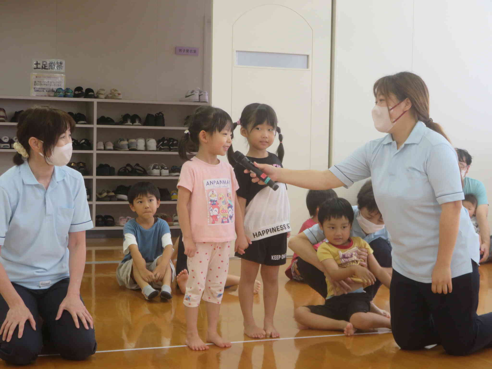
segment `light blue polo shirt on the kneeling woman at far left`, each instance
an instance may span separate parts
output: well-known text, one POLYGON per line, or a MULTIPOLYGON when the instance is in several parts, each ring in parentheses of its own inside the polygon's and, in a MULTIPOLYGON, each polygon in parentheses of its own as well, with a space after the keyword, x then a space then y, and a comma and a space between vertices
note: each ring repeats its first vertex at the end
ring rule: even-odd
POLYGON ((93 227, 82 175, 55 166, 48 189, 28 162, 0 176, 0 263, 11 282, 49 288, 68 273, 68 233, 93 227))

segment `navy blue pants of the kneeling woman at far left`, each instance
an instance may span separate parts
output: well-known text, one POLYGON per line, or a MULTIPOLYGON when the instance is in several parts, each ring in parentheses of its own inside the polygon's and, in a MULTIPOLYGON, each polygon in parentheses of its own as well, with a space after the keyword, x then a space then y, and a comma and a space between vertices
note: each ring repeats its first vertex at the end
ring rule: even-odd
MULTIPOLYGON (((65 278, 47 289, 31 290, 12 283, 26 307, 36 321, 36 330, 26 321, 22 338, 18 338, 19 327, 16 327, 10 342, 0 337, 0 358, 8 364, 27 365, 36 360, 43 345, 60 353, 69 360, 83 360, 94 354, 97 343, 94 330, 86 330, 79 319, 80 328, 75 327, 72 315, 66 310, 62 317, 55 320, 58 308, 66 296, 70 278, 65 278), (43 319, 41 327, 40 317, 43 319)), ((8 312, 8 305, 0 296, 0 326, 8 312)))

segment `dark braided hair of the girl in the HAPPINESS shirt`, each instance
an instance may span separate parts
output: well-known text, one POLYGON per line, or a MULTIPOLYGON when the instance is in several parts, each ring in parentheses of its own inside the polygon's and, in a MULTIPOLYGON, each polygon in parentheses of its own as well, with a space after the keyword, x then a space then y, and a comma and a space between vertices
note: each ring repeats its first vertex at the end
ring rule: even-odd
MULTIPOLYGON (((285 154, 283 150, 283 136, 280 131, 280 127, 277 125, 277 114, 275 114, 275 110, 267 104, 260 104, 258 102, 246 105, 246 107, 243 109, 243 112, 241 113, 241 118, 239 119, 241 127, 245 128, 249 132, 256 127, 257 125, 267 123, 268 125, 272 126, 275 131, 278 133, 278 139, 280 140, 280 144, 278 145, 277 148, 277 156, 280 159, 280 162, 283 161, 283 155, 285 154)), ((233 138, 234 138, 234 129, 238 126, 238 122, 234 123, 232 126, 232 132, 233 132, 233 138)), ((233 157, 234 150, 232 149, 232 145, 227 151, 227 159, 229 159, 229 163, 231 165, 235 165, 236 161, 234 160, 233 157)))

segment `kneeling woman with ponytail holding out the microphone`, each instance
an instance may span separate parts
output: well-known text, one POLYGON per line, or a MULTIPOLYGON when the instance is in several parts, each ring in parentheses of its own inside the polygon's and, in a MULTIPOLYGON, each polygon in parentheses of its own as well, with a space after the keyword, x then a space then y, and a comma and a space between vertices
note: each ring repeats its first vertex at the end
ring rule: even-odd
POLYGON ((478 236, 461 205, 456 152, 429 118, 427 86, 400 72, 377 80, 373 92, 372 118, 385 137, 327 171, 258 167, 274 181, 310 189, 349 187, 371 177, 393 246, 396 342, 410 350, 442 344, 453 355, 492 347, 492 313, 476 313, 479 255, 469 248, 476 248, 478 236))

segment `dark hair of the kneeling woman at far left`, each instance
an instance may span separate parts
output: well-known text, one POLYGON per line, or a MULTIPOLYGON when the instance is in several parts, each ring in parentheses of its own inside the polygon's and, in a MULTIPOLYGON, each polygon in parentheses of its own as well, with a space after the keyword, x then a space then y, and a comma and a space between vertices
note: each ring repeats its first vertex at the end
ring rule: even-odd
MULTIPOLYGON (((73 133, 75 121, 63 110, 49 106, 33 106, 19 116, 17 139, 29 155, 31 155, 29 139, 35 137, 43 141, 43 154, 49 157, 60 136, 68 128, 73 133)), ((13 160, 15 165, 21 165, 25 159, 21 154, 16 153, 13 160)))

